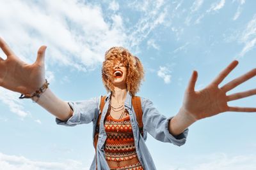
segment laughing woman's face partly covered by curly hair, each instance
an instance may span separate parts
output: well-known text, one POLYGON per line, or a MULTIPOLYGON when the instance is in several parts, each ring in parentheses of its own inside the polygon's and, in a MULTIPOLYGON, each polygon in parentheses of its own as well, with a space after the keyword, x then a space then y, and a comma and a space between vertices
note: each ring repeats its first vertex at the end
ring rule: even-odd
POLYGON ((127 68, 120 61, 116 61, 113 65, 113 85, 116 87, 125 87, 126 88, 126 76, 127 68))

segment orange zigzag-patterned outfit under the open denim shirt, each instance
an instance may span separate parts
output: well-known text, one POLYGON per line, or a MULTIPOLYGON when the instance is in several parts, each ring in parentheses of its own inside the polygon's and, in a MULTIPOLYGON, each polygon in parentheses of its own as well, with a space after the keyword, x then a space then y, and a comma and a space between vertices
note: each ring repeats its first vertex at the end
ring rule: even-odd
MULTIPOLYGON (((125 110, 125 112, 128 111, 125 110)), ((107 161, 111 160, 119 162, 138 158, 134 145, 134 136, 132 133, 130 117, 116 120, 111 117, 108 111, 104 127, 107 134, 104 148, 107 161)), ((143 167, 141 166, 140 161, 138 161, 129 166, 115 167, 111 169, 143 170, 143 167)))

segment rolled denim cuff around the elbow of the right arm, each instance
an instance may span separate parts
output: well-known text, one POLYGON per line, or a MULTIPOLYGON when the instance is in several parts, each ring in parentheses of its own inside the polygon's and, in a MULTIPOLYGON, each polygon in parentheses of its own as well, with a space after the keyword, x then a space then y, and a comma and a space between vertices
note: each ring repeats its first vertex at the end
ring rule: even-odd
POLYGON ((181 146, 184 145, 186 143, 186 138, 188 136, 188 129, 185 129, 184 132, 182 132, 181 134, 177 135, 177 136, 173 136, 172 134, 170 134, 169 132, 169 122, 173 117, 167 118, 166 122, 164 122, 164 134, 167 136, 168 139, 170 139, 170 141, 177 146, 181 146))

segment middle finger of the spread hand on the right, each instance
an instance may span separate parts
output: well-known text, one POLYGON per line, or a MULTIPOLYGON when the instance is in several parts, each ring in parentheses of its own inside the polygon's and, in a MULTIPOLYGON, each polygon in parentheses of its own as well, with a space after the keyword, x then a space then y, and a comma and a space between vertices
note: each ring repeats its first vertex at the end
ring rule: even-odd
POLYGON ((256 75, 256 69, 252 69, 248 73, 243 74, 242 76, 239 76, 238 78, 223 85, 223 87, 221 87, 221 89, 224 90, 225 92, 228 92, 229 90, 234 89, 235 87, 237 87, 237 85, 240 85, 244 81, 247 81, 250 78, 253 78, 253 76, 255 76, 255 75, 256 75))

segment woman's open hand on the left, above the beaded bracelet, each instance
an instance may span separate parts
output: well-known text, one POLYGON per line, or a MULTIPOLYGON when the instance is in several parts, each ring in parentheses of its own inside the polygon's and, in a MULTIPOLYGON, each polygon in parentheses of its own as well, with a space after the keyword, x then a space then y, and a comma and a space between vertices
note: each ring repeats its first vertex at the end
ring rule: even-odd
POLYGON ((1 87, 21 94, 33 94, 45 83, 46 46, 39 48, 33 64, 20 60, 2 38, 0 38, 0 47, 7 56, 5 60, 0 56, 1 87))

